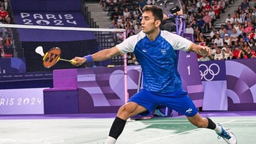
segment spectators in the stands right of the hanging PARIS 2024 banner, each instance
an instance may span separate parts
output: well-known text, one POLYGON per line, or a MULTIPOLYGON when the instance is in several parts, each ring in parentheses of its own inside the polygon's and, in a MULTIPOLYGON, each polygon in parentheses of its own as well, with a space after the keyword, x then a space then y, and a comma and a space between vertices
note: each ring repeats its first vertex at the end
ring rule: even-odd
MULTIPOLYGON (((141 31, 141 11, 145 5, 154 5, 157 0, 102 0, 106 11, 110 11, 109 28, 125 29, 126 38, 141 31), (109 6, 113 7, 113 11, 109 6)), ((212 47, 206 57, 198 55, 198 61, 255 58, 256 0, 243 0, 234 13, 225 11, 234 0, 180 0, 186 31, 194 35, 195 43, 212 47), (217 19, 225 18, 220 27, 217 19), (210 36, 206 36, 209 34, 210 36)), ((116 43, 123 41, 123 33, 113 33, 116 43)), ((131 54, 132 55, 132 54, 131 54)), ((133 61, 134 62, 134 61, 133 61)))

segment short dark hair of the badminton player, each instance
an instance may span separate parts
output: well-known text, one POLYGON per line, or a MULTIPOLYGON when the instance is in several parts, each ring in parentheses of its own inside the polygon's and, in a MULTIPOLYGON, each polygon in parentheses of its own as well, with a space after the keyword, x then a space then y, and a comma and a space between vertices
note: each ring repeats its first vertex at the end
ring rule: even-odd
POLYGON ((142 13, 146 11, 151 11, 155 17, 155 20, 163 20, 163 10, 161 7, 156 5, 145 5, 142 9, 142 13))

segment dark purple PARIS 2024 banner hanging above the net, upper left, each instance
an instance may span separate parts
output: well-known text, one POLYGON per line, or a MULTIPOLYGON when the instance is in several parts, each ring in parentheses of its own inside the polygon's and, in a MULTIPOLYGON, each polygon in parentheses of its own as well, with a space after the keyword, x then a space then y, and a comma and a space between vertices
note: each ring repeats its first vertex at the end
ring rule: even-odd
MULTIPOLYGON (((17 25, 90 27, 82 14, 81 1, 22 1, 26 3, 22 6, 20 1, 15 2, 12 1, 12 10, 17 25), (44 5, 51 5, 50 9, 45 9, 44 5)), ((92 31, 28 28, 19 28, 18 31, 22 42, 65 42, 96 38, 92 31)))

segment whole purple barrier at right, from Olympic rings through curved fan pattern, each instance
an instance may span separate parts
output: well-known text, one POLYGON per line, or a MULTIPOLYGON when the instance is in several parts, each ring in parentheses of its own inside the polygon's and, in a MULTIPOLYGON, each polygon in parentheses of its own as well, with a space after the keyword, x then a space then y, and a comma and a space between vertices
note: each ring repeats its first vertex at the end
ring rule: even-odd
POLYGON ((203 110, 255 110, 255 62, 256 59, 199 62, 205 92, 203 110), (206 71, 211 76, 206 77, 206 71))

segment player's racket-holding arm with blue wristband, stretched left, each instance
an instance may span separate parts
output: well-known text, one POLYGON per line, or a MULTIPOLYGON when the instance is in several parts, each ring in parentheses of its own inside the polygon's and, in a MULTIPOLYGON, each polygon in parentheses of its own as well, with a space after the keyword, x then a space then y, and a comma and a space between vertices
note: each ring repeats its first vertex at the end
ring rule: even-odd
POLYGON ((118 48, 114 46, 111 49, 105 49, 92 55, 87 55, 85 57, 75 57, 74 59, 72 59, 74 61, 72 64, 75 66, 80 66, 86 61, 103 61, 115 57, 118 54, 121 53, 119 52, 118 48))

